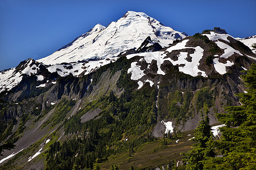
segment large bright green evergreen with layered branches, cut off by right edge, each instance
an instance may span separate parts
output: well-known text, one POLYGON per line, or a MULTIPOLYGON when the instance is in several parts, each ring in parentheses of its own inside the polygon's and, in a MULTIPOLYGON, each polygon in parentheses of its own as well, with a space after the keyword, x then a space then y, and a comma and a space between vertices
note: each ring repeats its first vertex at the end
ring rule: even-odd
POLYGON ((218 114, 222 139, 214 142, 221 156, 205 162, 205 169, 256 169, 256 64, 242 75, 247 93, 238 94, 241 106, 226 107, 218 114))

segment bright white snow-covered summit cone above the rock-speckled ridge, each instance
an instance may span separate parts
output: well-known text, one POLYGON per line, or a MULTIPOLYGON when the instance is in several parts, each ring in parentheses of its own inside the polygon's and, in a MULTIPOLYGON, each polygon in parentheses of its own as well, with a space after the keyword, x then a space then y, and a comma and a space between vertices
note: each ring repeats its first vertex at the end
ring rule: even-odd
POLYGON ((84 35, 38 61, 54 65, 118 56, 124 50, 139 48, 148 36, 164 47, 176 39, 184 39, 187 34, 174 31, 143 12, 127 11, 122 18, 110 23, 108 27, 97 24, 84 35))

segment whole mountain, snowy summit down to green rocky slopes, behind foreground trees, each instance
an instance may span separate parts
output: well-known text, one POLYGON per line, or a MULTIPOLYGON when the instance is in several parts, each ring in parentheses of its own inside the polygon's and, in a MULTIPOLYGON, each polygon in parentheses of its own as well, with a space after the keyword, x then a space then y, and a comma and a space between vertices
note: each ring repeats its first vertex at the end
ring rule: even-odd
POLYGON ((188 37, 143 12, 110 25, 1 71, 0 141, 16 145, 2 169, 167 168, 190 149, 205 105, 218 139, 216 113, 241 105, 251 49, 224 29, 188 37))

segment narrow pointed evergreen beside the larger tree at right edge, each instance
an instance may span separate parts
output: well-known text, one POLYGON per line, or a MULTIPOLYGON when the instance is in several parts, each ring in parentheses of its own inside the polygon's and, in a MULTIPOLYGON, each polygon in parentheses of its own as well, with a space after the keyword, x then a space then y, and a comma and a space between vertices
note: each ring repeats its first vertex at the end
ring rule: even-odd
POLYGON ((210 143, 212 143, 213 135, 210 131, 208 117, 209 109, 206 104, 204 104, 204 112, 205 116, 202 114, 202 120, 195 130, 195 138, 193 138, 193 141, 196 143, 192 145, 192 150, 183 154, 183 161, 187 163, 186 169, 203 169, 203 161, 215 155, 213 147, 210 145, 210 143))

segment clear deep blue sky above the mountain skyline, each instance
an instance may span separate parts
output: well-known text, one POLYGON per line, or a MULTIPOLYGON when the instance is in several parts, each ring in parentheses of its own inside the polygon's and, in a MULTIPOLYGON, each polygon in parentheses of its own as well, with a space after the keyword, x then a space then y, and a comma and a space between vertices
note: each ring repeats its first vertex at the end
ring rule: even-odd
POLYGON ((97 23, 107 26, 126 11, 145 12, 193 35, 224 28, 234 37, 256 35, 256 1, 0 0, 0 70, 52 54, 97 23))

